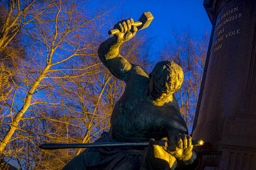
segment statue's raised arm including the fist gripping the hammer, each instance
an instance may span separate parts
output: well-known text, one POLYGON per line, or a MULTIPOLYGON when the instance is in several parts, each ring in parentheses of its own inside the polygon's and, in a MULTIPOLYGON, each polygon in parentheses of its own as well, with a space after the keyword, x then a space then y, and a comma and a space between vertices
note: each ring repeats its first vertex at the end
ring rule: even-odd
POLYGON ((119 47, 135 36, 137 27, 134 26, 134 21, 131 18, 117 23, 114 25, 114 29, 118 29, 119 32, 99 46, 98 55, 112 75, 127 82, 132 64, 119 54, 119 47))

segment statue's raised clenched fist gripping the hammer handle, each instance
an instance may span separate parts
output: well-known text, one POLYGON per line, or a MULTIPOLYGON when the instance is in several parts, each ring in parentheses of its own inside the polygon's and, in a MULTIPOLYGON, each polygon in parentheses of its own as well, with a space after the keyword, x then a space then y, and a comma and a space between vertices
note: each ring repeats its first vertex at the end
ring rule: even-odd
POLYGON ((134 26, 134 21, 132 18, 118 22, 116 25, 114 25, 114 29, 119 30, 119 32, 115 34, 117 36, 118 43, 124 43, 124 41, 131 39, 135 36, 138 30, 137 27, 134 26))

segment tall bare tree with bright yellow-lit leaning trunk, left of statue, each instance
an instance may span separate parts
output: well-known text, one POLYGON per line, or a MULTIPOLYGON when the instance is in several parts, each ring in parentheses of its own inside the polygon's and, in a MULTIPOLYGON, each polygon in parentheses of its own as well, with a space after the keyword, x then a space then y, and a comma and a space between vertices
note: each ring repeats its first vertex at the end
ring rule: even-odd
MULTIPOLYGON (((47 3, 45 2, 44 5, 49 6, 47 3)), ((54 5, 45 11, 45 15, 37 16, 36 22, 27 27, 29 29, 27 35, 34 42, 34 46, 30 46, 28 53, 35 57, 31 57, 33 61, 30 61, 27 65, 24 64, 27 67, 24 67, 19 75, 19 78, 24 81, 16 85, 19 94, 12 98, 13 105, 10 105, 8 113, 11 117, 11 123, 0 143, 1 152, 19 128, 19 122, 25 119, 22 116, 30 106, 42 103, 62 105, 49 100, 39 100, 39 97, 37 97, 37 95, 43 94, 44 89, 48 88, 49 81, 58 81, 58 79, 79 77, 86 74, 76 72, 72 75, 66 75, 65 71, 70 70, 70 68, 61 68, 63 63, 75 62, 75 56, 81 55, 81 52, 84 52, 89 45, 94 43, 98 35, 95 32, 94 35, 89 34, 91 37, 86 36, 92 27, 100 24, 97 21, 105 15, 105 12, 99 11, 93 16, 85 16, 83 12, 82 9, 78 9, 76 1, 54 2, 54 5), (81 33, 83 33, 83 36, 80 36, 81 33), (55 69, 58 66, 60 69, 55 69), (22 99, 22 102, 15 104, 15 101, 22 99)), ((76 68, 74 70, 86 69, 76 68)))

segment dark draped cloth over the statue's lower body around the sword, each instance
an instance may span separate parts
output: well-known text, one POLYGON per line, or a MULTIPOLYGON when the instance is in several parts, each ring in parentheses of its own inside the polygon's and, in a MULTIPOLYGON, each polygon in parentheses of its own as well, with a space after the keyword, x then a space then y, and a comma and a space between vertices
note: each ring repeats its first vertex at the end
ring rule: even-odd
MULTIPOLYGON (((114 142, 109 133, 103 133, 97 143, 114 142)), ((139 169, 144 147, 90 148, 73 158, 62 170, 139 169)))

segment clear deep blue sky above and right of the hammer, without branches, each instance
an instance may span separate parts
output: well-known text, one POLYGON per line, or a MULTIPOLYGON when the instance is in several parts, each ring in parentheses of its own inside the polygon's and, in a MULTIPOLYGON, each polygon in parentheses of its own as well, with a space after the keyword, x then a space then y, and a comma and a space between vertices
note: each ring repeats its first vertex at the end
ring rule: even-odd
MULTIPOLYGON (((145 30, 155 37, 155 49, 162 49, 164 41, 173 41, 172 29, 178 33, 189 30, 193 36, 211 31, 211 23, 203 7, 203 0, 124 0, 110 12, 115 21, 133 18, 137 21, 143 12, 150 11, 154 17, 145 30)), ((107 33, 106 33, 107 34, 107 33)))

